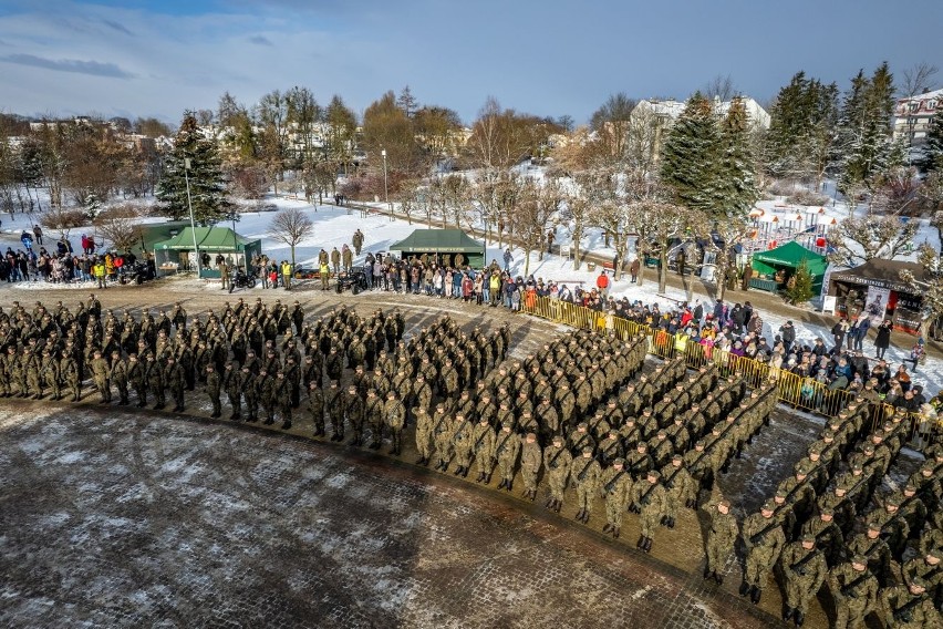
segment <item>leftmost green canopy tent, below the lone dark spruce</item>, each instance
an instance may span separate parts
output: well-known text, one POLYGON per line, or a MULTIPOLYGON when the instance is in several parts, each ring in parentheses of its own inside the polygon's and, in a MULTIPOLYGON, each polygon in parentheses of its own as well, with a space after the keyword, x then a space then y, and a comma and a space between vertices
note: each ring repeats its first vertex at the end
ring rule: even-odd
POLYGON ((179 234, 154 245, 154 257, 158 270, 168 271, 174 268, 188 269, 193 267, 195 257, 194 235, 196 235, 197 249, 209 256, 209 265, 199 265, 199 277, 219 277, 219 267, 216 264, 218 255, 222 255, 230 267, 242 267, 252 256, 262 250, 261 240, 249 240, 239 236, 228 227, 197 227, 195 230, 185 227, 179 234), (176 265, 176 267, 175 267, 176 265))

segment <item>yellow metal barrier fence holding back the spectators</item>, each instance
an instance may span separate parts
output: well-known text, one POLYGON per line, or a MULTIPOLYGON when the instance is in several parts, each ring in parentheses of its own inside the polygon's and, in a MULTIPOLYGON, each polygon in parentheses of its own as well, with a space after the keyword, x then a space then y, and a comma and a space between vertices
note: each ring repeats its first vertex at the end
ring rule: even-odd
MULTIPOLYGON (((781 403, 810 413, 833 417, 854 396, 843 389, 830 389, 814 378, 799 375, 716 347, 701 344, 687 334, 670 334, 662 329, 621 319, 610 312, 592 310, 569 301, 531 295, 529 299, 521 300, 521 309, 528 314, 573 328, 611 331, 621 339, 642 333, 649 339, 649 353, 664 359, 683 355, 692 369, 697 369, 713 360, 722 373, 736 373, 753 388, 764 381, 776 380, 781 403)), ((890 404, 874 405, 871 416, 872 431, 893 414, 894 408, 890 404)), ((919 413, 908 413, 908 419, 911 423, 911 442, 920 446, 933 431, 933 422, 919 413)))

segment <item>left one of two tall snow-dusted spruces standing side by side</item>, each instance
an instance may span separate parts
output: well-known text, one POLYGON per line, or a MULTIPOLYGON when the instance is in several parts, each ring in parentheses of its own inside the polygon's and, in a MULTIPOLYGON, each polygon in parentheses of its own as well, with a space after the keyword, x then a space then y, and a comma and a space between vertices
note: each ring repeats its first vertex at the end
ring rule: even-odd
POLYGON ((717 189, 721 157, 721 131, 714 107, 696 92, 665 138, 662 181, 681 205, 714 217, 723 215, 717 189))

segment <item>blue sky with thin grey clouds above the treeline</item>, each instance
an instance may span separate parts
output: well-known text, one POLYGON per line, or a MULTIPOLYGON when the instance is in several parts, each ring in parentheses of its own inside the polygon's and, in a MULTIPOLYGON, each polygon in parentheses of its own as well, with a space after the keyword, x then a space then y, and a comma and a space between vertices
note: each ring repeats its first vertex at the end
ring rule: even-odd
MULTIPOLYGON (((408 85, 466 124, 501 106, 584 123, 610 94, 718 75, 765 103, 799 70, 844 90, 882 61, 943 69, 943 1, 0 0, 0 112, 155 116, 303 85, 359 114, 408 85), (889 10, 892 13, 889 13, 889 10), (935 43, 934 43, 935 42, 935 43)), ((943 84, 943 70, 934 87, 943 84)))

